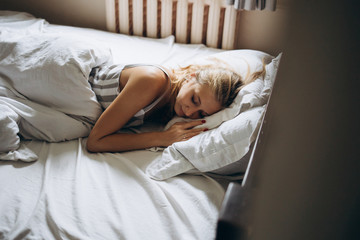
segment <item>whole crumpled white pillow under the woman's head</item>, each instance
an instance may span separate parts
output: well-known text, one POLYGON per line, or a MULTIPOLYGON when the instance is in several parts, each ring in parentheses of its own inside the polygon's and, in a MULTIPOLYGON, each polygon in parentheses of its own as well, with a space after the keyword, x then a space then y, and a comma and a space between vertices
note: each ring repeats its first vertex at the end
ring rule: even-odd
MULTIPOLYGON (((190 170, 215 172, 221 175, 244 171, 244 164, 236 163, 242 160, 248 161, 248 158, 242 158, 248 153, 255 140, 265 104, 274 84, 281 54, 273 58, 258 51, 235 50, 214 56, 219 55, 226 56, 223 60, 231 60, 229 64, 233 65, 236 65, 235 59, 238 59, 238 67, 233 66, 233 68, 245 75, 244 61, 250 64, 251 71, 257 71, 262 67, 262 58, 265 57, 267 65, 264 79, 257 79, 244 87, 229 108, 206 117, 207 123, 201 126, 211 129, 222 123, 218 128, 204 132, 188 141, 176 142, 166 148, 162 157, 157 158, 146 169, 150 177, 163 180, 190 170), (267 60, 269 58, 270 61, 267 60), (230 167, 231 165, 242 167, 236 169, 230 167)), ((179 120, 186 119, 177 118, 172 120, 172 123, 179 120)))

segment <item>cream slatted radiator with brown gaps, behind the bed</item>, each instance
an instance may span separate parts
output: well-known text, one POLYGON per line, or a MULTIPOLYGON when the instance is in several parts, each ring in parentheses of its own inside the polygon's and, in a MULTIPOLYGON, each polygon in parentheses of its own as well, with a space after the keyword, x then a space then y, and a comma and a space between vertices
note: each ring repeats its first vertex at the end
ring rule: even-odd
POLYGON ((106 0, 111 32, 234 49, 239 11, 226 0, 106 0))

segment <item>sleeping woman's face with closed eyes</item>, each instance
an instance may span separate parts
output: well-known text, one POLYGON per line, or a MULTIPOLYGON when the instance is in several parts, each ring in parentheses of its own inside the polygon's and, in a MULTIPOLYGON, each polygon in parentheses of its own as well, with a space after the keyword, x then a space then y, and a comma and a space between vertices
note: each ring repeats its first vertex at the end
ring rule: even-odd
POLYGON ((195 77, 192 77, 180 88, 174 111, 179 117, 197 119, 212 115, 221 108, 210 87, 197 83, 195 77))

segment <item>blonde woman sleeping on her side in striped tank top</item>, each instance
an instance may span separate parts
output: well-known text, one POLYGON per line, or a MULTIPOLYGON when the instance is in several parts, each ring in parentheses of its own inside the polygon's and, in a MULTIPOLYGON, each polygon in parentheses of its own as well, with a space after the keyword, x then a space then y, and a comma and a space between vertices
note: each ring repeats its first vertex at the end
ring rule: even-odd
POLYGON ((121 152, 188 140, 208 130, 194 128, 205 123, 203 117, 228 107, 240 89, 259 74, 263 72, 242 79, 228 68, 211 65, 172 70, 158 65, 94 68, 89 82, 105 111, 90 132, 87 149, 121 152), (175 123, 161 132, 118 133, 144 121, 166 123, 175 115, 194 121, 175 123))

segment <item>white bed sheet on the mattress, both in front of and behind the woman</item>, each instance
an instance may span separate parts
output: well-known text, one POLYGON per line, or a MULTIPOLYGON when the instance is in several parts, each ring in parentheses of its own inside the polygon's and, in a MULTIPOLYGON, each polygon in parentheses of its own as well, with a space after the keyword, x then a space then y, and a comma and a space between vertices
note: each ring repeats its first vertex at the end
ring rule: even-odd
MULTIPOLYGON (((6 24, 24 27, 26 34, 66 32, 102 41, 114 63, 174 66, 219 52, 174 44, 172 37, 150 40, 47 25, 31 17, 6 24)), ((145 169, 161 152, 90 154, 85 141, 23 141, 37 161, 0 161, 0 239, 214 238, 224 197, 218 182, 191 175, 156 181, 145 169)))

